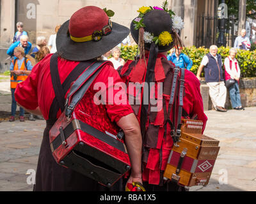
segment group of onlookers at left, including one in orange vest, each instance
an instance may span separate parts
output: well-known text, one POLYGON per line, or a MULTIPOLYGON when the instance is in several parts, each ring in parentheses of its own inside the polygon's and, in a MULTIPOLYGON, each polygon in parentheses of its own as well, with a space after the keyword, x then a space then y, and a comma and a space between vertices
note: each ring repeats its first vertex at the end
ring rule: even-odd
MULTIPOLYGON (((23 31, 23 23, 17 22, 17 32, 12 40, 12 45, 8 48, 7 54, 10 55, 10 73, 11 73, 11 91, 12 91, 12 113, 10 116, 10 122, 15 121, 15 113, 17 109, 17 103, 15 101, 14 92, 17 84, 24 82, 28 78, 33 66, 49 53, 56 52, 56 34, 53 34, 49 38, 47 46, 47 39, 45 36, 38 36, 36 38, 36 46, 32 48, 28 33, 23 31)), ((56 33, 60 29, 60 25, 55 28, 56 33)), ((24 109, 20 108, 19 119, 24 122, 24 109)), ((29 115, 29 120, 35 121, 36 119, 44 119, 40 115, 29 115)))

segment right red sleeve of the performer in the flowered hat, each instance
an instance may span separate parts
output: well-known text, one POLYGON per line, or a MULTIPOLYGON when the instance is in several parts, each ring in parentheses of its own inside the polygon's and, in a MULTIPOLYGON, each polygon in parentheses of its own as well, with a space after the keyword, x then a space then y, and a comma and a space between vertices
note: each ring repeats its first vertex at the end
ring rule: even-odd
POLYGON ((185 70, 185 97, 183 108, 189 115, 196 114, 198 120, 202 120, 204 122, 204 133, 207 116, 204 113, 204 104, 200 92, 200 82, 196 76, 188 70, 185 70))

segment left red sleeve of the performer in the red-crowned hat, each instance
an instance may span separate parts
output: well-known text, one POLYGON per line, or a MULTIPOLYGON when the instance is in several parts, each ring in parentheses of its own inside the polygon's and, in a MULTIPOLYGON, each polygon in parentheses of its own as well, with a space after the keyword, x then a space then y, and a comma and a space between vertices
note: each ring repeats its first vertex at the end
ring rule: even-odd
POLYGON ((28 78, 19 83, 15 89, 15 100, 29 110, 35 110, 38 107, 37 85, 39 72, 40 62, 33 67, 28 78))

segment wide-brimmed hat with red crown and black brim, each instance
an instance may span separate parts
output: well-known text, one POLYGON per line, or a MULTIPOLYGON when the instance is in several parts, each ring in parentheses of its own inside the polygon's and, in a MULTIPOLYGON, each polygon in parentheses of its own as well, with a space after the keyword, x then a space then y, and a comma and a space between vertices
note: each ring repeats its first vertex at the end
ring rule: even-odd
POLYGON ((96 6, 86 6, 76 11, 63 25, 61 25, 56 36, 56 48, 58 55, 70 61, 86 61, 105 54, 121 43, 129 34, 129 28, 124 25, 112 23, 111 33, 102 35, 99 41, 77 42, 70 36, 82 38, 92 35, 93 31, 99 31, 97 21, 107 20, 106 13, 96 6), (81 15, 89 15, 92 19, 83 18, 81 15), (70 22, 72 25, 70 25, 70 22), (79 36, 80 35, 80 36, 79 36))

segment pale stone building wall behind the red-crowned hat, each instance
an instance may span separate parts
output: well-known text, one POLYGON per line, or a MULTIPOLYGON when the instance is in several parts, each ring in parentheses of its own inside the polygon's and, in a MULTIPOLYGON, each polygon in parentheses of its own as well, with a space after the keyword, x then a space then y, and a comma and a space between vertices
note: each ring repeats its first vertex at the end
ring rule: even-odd
MULTIPOLYGON (((163 0, 16 0, 16 11, 8 3, 9 0, 2 0, 1 2, 6 4, 8 13, 10 11, 16 13, 16 20, 24 23, 24 31, 28 32, 29 41, 35 45, 36 36, 45 36, 48 40, 50 35, 54 34, 56 25, 63 24, 75 11, 84 6, 93 5, 113 10, 115 15, 111 17, 111 20, 130 27, 132 19, 138 15, 137 10, 141 6, 161 6, 163 0)), ((0 44, 10 44, 14 34, 14 19, 1 18, 1 24, 7 24, 13 28, 12 31, 8 29, 9 32, 5 32, 6 38, 0 39, 0 44)), ((133 41, 132 38, 131 41, 133 41)))

